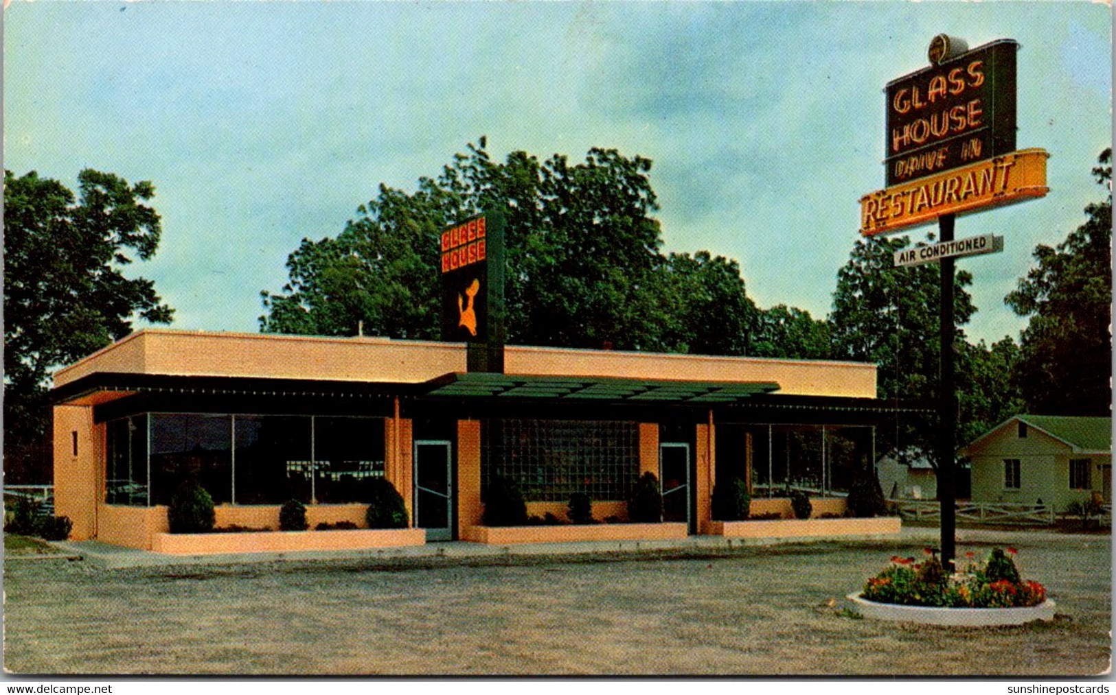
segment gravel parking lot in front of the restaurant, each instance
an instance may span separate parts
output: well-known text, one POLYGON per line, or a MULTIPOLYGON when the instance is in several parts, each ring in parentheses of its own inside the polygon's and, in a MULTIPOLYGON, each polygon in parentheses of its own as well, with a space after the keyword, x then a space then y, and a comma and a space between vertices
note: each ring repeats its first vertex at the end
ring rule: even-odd
MULTIPOLYGON (((1109 666, 1107 535, 1011 532, 1050 624, 857 619, 845 593, 911 540, 716 557, 4 563, 4 667, 25 674, 1093 675, 1109 666)), ((987 552, 991 543, 962 543, 987 552)))

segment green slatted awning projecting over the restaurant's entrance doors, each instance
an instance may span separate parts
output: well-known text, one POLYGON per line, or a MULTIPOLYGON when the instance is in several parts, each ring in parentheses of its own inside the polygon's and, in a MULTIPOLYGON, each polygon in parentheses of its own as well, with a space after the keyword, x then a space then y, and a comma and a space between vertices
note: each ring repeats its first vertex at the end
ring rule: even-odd
POLYGON ((425 396, 548 398, 625 403, 737 403, 779 389, 775 382, 674 382, 619 377, 566 377, 453 373, 426 383, 425 396))

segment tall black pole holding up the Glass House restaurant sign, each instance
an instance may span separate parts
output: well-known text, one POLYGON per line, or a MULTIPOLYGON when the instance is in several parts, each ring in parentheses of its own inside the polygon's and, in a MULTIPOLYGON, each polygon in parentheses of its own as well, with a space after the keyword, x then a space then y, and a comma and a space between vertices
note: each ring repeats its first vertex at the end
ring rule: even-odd
MULTIPOLYGON (((940 241, 953 241, 954 215, 944 214, 937 219, 940 241)), ((939 386, 939 465, 937 465, 937 499, 942 503, 942 567, 951 571, 950 562, 955 557, 954 548, 954 495, 953 495, 953 441, 958 427, 958 398, 954 384, 953 351, 953 258, 943 258, 942 266, 941 310, 939 326, 941 328, 941 370, 939 386)))

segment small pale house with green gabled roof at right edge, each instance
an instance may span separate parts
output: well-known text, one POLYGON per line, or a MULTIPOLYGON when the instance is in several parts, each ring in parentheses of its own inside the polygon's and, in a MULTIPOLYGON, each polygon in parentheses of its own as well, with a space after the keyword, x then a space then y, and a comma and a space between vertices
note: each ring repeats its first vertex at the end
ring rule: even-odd
POLYGON ((1017 415, 962 447, 973 502, 1112 502, 1112 418, 1017 415))

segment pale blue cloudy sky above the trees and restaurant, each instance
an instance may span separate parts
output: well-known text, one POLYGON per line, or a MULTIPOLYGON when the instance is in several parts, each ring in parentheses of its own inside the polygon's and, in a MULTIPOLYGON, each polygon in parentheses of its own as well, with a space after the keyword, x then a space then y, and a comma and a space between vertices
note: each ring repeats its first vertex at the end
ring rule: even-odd
MULTIPOLYGON (((958 221, 972 339, 1018 336, 1003 296, 1101 191, 1112 9, 1064 2, 22 2, 4 10, 4 167, 155 184, 155 281, 176 328, 258 330, 302 238, 381 182, 413 190, 480 135, 579 161, 654 161, 667 251, 738 259, 761 306, 825 316, 884 186, 883 87, 940 32, 1013 38, 1019 147, 1050 194, 958 221)), ((930 228, 916 230, 922 238, 930 228)))

